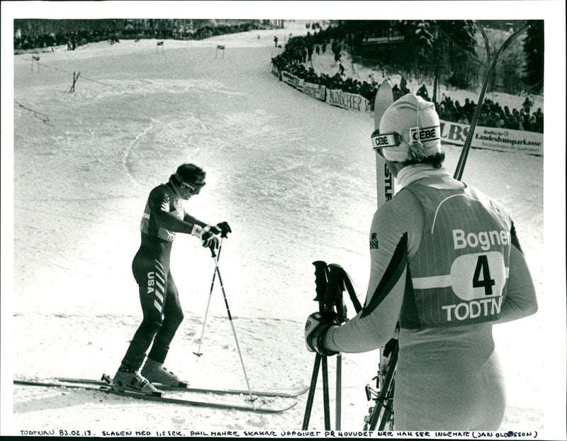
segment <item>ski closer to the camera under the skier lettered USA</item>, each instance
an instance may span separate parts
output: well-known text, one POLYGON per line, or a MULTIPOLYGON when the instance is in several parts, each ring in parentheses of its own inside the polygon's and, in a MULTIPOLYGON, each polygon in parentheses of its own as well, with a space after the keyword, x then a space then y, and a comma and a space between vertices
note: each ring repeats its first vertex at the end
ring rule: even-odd
POLYGON ((297 404, 297 401, 293 401, 293 403, 275 407, 275 406, 269 406, 269 404, 266 406, 266 403, 262 403, 262 402, 250 403, 250 404, 217 403, 214 401, 204 401, 204 400, 195 400, 195 399, 189 400, 186 398, 174 398, 171 396, 162 396, 161 392, 154 395, 145 395, 144 393, 118 391, 116 389, 112 389, 111 386, 108 386, 108 384, 105 385, 86 384, 86 383, 73 384, 73 383, 63 383, 61 381, 40 381, 40 380, 14 380, 13 384, 20 384, 23 386, 43 386, 43 387, 60 387, 67 389, 82 389, 86 391, 97 391, 112 395, 126 396, 128 398, 135 398, 137 400, 157 401, 159 403, 178 404, 181 406, 198 406, 198 407, 209 407, 209 408, 218 408, 218 409, 229 409, 233 411, 254 411, 258 413, 281 413, 288 411, 297 404))

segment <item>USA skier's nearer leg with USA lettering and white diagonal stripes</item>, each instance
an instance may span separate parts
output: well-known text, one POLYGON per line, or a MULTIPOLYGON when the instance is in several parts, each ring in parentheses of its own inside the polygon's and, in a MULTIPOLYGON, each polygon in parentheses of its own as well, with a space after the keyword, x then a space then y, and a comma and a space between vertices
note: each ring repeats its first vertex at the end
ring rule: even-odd
POLYGON ((122 366, 137 370, 142 366, 146 352, 162 326, 169 262, 156 258, 140 247, 133 259, 132 271, 140 288, 143 319, 130 342, 122 366))

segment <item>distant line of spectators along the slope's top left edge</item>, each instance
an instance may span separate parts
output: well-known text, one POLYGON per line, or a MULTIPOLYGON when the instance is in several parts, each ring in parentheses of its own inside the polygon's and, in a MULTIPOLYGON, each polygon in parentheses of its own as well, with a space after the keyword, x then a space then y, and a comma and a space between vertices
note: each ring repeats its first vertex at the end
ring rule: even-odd
POLYGON ((131 23, 116 23, 100 29, 84 28, 77 31, 58 30, 57 32, 42 35, 28 35, 21 30, 16 30, 13 39, 14 50, 30 50, 40 48, 54 48, 55 46, 67 45, 67 50, 74 50, 77 46, 86 43, 96 43, 109 40, 112 43, 120 43, 123 40, 138 40, 142 38, 164 38, 172 40, 203 40, 215 35, 229 33, 247 32, 249 30, 264 29, 265 26, 258 22, 238 23, 234 25, 221 24, 218 26, 201 26, 192 29, 187 26, 174 26, 174 21, 159 21, 156 26, 133 26, 131 23))

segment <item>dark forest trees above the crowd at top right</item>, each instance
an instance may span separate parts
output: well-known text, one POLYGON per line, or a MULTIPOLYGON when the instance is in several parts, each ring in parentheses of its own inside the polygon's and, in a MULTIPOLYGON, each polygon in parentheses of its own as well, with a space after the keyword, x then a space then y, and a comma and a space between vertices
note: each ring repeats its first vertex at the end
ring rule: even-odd
POLYGON ((433 78, 434 94, 439 81, 461 89, 478 86, 488 66, 483 35, 488 38, 493 56, 513 32, 526 24, 530 28, 518 35, 498 60, 491 84, 512 94, 542 93, 544 21, 333 22, 337 27, 335 35, 344 35, 349 50, 360 57, 360 62, 395 69, 408 77, 433 78), (388 42, 372 46, 372 38, 388 38, 388 42))

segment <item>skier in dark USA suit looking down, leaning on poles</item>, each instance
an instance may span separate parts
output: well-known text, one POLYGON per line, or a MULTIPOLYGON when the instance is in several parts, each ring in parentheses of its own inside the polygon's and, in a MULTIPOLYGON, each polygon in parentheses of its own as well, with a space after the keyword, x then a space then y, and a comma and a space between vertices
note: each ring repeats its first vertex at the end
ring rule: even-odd
POLYGON ((196 235, 214 257, 220 243, 218 236, 230 233, 226 222, 207 225, 184 211, 182 200, 198 194, 205 185, 205 177, 203 169, 196 165, 182 164, 169 182, 155 187, 147 199, 140 225, 142 243, 132 262, 143 320, 113 378, 116 389, 152 393, 157 390, 152 383, 179 383, 179 378, 163 367, 169 344, 183 320, 169 271, 173 240, 176 233, 196 235), (150 345, 152 349, 142 367, 150 345))

